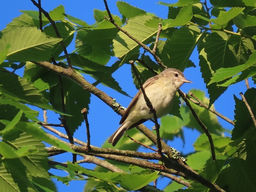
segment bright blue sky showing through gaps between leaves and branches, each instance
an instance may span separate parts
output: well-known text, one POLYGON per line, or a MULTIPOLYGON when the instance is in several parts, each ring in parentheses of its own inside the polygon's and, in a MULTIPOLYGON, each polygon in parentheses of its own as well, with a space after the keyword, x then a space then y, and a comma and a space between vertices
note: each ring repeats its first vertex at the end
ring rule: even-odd
MULTIPOLYGON (((167 18, 168 7, 156 4, 158 1, 155 0, 126 0, 125 2, 136 6, 140 9, 143 9, 147 12, 155 13, 160 18, 167 18)), ((177 1, 164 1, 166 3, 175 3, 177 1)), ((60 0, 41 0, 42 7, 47 12, 51 11, 58 5, 62 4, 65 7, 65 12, 69 15, 72 15, 76 18, 86 21, 88 24, 95 23, 93 18, 93 9, 105 10, 105 5, 103 0, 74 0, 74 1, 60 1, 60 0)), ((116 7, 115 0, 108 0, 108 6, 112 14, 118 15, 122 18, 122 15, 118 12, 116 7)), ((208 6, 210 7, 210 6, 208 6)), ((29 0, 12 0, 12 1, 1 1, 1 12, 0 12, 0 30, 4 29, 5 26, 12 21, 13 18, 20 16, 20 10, 37 10, 33 3, 29 0)), ((72 52, 75 49, 74 40, 68 46, 68 52, 72 52)), ((200 89, 206 92, 204 81, 201 77, 201 72, 199 68, 199 60, 198 60, 198 52, 195 51, 192 53, 190 59, 195 63, 196 68, 188 68, 185 70, 184 75, 188 80, 193 81, 193 84, 184 84, 181 87, 183 92, 188 93, 190 89, 200 89)), ((113 58, 109 61, 108 66, 111 66, 115 62, 116 58, 113 58)), ((16 71, 16 74, 22 76, 23 69, 16 71)), ((113 73, 113 77, 117 80, 122 89, 127 92, 131 97, 133 97, 138 91, 133 84, 133 79, 131 76, 131 69, 129 65, 123 65, 119 68, 115 73, 113 73)), ((90 76, 85 76, 85 79, 90 83, 95 82, 90 76)), ((252 80, 249 80, 249 84, 253 86, 252 80)), ((122 106, 127 107, 132 100, 129 97, 126 97, 108 87, 105 87, 101 84, 97 86, 100 90, 106 92, 109 96, 116 99, 122 106)), ((220 96, 220 98, 214 103, 215 109, 221 114, 227 116, 229 119, 234 119, 234 107, 235 102, 233 99, 233 94, 235 94, 238 98, 240 98, 239 93, 245 92, 246 86, 244 82, 240 82, 235 85, 231 85, 228 90, 220 96)), ((105 103, 100 101, 97 97, 92 95, 91 104, 89 105, 90 110, 88 114, 88 120, 90 124, 90 132, 91 132, 91 144, 94 146, 100 147, 103 142, 119 127, 119 121, 121 116, 118 116, 111 108, 109 108, 105 103)), ((43 120, 42 110, 40 110, 39 119, 43 120)), ((47 113, 48 123, 59 123, 58 117, 55 113, 47 113)), ((219 118, 220 124, 229 130, 233 128, 233 126, 226 121, 219 118)), ((146 124, 148 128, 153 126, 152 123, 146 124)), ((58 129, 62 131, 61 129, 58 129)), ((184 148, 181 145, 182 141, 180 139, 175 139, 174 141, 168 143, 172 147, 176 148, 178 151, 183 154, 188 154, 193 151, 192 144, 199 136, 199 132, 192 131, 191 129, 184 129, 185 131, 185 140, 187 141, 184 148)), ((86 142, 86 131, 85 125, 82 124, 81 128, 75 132, 74 137, 76 139, 82 140, 86 142)), ((54 158, 55 161, 61 162, 63 158, 72 161, 72 154, 68 155, 60 155, 60 157, 54 158)), ((78 160, 80 160, 78 158, 78 160)), ((93 169, 94 165, 86 165, 86 168, 93 169)), ((53 173, 53 172, 52 172, 53 173)), ((59 172, 54 172, 59 174, 59 172)), ((62 173, 60 173, 62 174, 62 173)), ((167 180, 166 180, 167 181, 167 180)), ((58 191, 67 191, 70 189, 76 191, 83 191, 85 181, 72 181, 69 183, 69 186, 66 186, 60 182, 56 182, 56 186, 58 191)), ((157 186, 160 189, 163 189, 164 186, 157 186)))

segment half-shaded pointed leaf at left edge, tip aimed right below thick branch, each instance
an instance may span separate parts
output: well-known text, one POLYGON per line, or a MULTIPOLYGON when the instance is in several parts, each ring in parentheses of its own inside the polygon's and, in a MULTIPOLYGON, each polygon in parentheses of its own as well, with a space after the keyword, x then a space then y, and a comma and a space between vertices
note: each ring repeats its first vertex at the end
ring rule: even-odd
MULTIPOLYGON (((13 75, 7 72, 0 72, 0 91, 13 101, 28 103, 43 109, 50 109, 55 112, 55 109, 49 104, 49 101, 33 87, 25 78, 13 75)), ((58 112, 63 114, 61 112, 58 112)))

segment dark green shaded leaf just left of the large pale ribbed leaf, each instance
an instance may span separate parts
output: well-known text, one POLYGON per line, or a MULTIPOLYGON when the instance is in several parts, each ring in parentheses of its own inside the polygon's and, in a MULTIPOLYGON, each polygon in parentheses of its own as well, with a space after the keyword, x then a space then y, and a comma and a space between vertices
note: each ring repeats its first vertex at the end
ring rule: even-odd
POLYGON ((77 52, 86 59, 106 65, 110 59, 110 45, 116 33, 116 28, 79 30, 76 35, 77 52))

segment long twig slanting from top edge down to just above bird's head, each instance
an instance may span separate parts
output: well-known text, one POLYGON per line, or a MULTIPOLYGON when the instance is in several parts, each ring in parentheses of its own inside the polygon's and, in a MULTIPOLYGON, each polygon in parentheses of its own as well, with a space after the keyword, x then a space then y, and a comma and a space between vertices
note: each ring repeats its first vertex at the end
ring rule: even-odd
POLYGON ((127 35, 130 39, 132 39, 133 41, 135 41, 137 44, 139 44, 143 49, 147 50, 151 55, 154 56, 154 58, 156 59, 156 62, 163 68, 166 69, 167 67, 163 64, 163 62, 161 61, 161 59, 156 55, 156 53, 152 52, 152 50, 145 44, 141 43, 138 39, 136 39, 135 37, 131 36, 127 31, 125 31, 124 29, 122 29, 119 25, 116 24, 116 22, 113 20, 112 15, 110 13, 110 10, 108 8, 108 4, 106 0, 103 0, 104 4, 105 4, 105 8, 108 12, 108 17, 110 19, 108 19, 107 16, 105 16, 104 18, 109 20, 113 25, 116 26, 116 28, 120 31, 122 31, 125 35, 127 35))

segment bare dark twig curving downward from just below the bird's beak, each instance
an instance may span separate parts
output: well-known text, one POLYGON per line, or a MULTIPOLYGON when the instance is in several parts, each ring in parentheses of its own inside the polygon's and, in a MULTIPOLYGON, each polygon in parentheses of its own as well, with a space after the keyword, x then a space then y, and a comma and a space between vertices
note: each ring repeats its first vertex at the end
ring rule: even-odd
POLYGON ((201 128, 203 129, 203 131, 205 132, 206 136, 208 137, 208 140, 210 142, 210 147, 211 147, 211 151, 212 151, 212 161, 214 161, 216 159, 215 157, 215 149, 214 149, 214 144, 212 141, 212 135, 211 133, 208 131, 207 127, 203 124, 203 122, 200 120, 200 118, 197 116, 196 111, 193 109, 193 107, 190 105, 186 95, 179 89, 178 90, 180 97, 185 101, 185 103, 187 104, 188 108, 190 109, 192 115, 195 117, 197 123, 201 126, 201 128))

